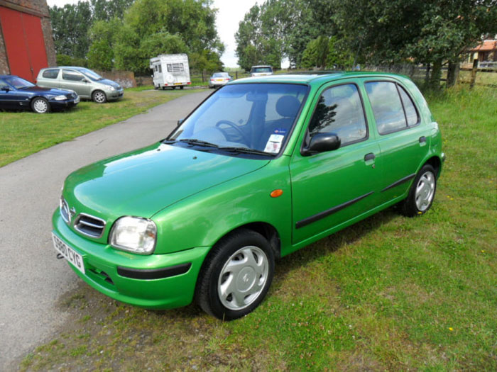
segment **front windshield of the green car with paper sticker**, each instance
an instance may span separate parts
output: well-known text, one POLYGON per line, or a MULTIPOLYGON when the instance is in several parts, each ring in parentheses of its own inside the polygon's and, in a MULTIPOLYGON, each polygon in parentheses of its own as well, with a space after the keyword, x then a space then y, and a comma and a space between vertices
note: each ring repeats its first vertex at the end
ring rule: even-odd
POLYGON ((284 147, 307 94, 300 84, 234 84, 212 94, 168 140, 275 155, 284 147))

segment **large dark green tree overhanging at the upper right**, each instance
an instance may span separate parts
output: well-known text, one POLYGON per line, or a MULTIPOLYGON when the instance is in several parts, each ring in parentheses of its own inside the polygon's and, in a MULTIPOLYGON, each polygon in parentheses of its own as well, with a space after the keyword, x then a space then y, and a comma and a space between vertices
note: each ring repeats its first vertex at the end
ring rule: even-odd
POLYGON ((359 61, 432 64, 432 86, 442 64, 457 62, 481 35, 497 32, 495 0, 333 0, 335 20, 359 61), (354 9, 354 11, 351 11, 354 9))

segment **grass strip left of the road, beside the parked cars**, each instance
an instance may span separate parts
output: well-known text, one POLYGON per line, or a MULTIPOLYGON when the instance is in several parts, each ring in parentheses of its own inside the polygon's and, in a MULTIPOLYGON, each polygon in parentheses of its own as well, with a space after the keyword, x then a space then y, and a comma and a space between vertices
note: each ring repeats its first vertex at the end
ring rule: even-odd
POLYGON ((0 167, 195 91, 126 89, 124 98, 102 105, 82 101, 71 110, 43 115, 31 111, 0 113, 0 167))

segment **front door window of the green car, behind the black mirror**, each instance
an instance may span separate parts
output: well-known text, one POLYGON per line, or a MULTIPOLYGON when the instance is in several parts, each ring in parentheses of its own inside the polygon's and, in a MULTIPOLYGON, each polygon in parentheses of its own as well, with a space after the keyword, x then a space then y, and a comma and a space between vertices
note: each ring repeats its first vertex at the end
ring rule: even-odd
POLYGON ((361 97, 355 84, 332 86, 324 91, 309 124, 309 135, 334 133, 342 146, 368 135, 361 97))

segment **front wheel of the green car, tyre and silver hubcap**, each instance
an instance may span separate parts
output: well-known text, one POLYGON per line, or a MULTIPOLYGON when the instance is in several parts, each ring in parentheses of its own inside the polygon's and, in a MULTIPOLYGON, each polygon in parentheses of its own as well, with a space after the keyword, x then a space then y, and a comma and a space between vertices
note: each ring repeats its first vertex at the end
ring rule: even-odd
POLYGON ((220 320, 238 319, 262 302, 273 274, 274 253, 268 241, 252 230, 237 230, 209 252, 200 269, 195 299, 202 310, 220 320), (229 283, 236 283, 232 292, 229 283))

